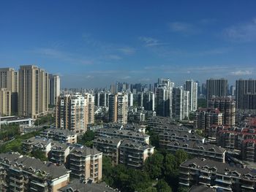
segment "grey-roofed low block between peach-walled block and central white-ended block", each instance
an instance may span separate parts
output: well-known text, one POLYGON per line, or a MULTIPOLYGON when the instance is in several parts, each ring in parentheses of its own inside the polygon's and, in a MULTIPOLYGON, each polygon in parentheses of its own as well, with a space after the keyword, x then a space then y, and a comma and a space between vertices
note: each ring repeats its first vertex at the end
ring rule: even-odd
POLYGON ((94 147, 103 153, 103 155, 111 158, 114 165, 118 164, 119 159, 119 146, 121 145, 121 139, 110 137, 98 137, 94 139, 94 147))

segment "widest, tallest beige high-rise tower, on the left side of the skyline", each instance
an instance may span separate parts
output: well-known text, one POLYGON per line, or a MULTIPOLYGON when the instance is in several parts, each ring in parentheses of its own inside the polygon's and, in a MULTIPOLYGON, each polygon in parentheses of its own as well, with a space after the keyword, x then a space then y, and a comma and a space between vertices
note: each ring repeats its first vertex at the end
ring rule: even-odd
POLYGON ((37 118, 48 111, 48 72, 38 66, 20 66, 18 114, 37 118))

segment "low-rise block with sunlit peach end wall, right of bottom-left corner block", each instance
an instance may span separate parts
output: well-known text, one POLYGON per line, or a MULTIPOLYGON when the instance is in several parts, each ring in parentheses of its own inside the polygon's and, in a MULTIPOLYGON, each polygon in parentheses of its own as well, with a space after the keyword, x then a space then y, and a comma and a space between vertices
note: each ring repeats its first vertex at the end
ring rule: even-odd
POLYGON ((69 153, 69 169, 72 177, 80 180, 102 180, 102 153, 95 148, 75 147, 69 153))

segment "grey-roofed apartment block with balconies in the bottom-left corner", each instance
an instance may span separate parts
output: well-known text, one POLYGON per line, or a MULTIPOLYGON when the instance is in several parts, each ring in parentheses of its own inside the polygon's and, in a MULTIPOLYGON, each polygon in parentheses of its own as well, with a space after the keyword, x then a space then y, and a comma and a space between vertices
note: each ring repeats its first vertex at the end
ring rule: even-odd
POLYGON ((1 191, 57 192, 69 182, 69 170, 64 166, 43 163, 19 153, 1 153, 1 191))

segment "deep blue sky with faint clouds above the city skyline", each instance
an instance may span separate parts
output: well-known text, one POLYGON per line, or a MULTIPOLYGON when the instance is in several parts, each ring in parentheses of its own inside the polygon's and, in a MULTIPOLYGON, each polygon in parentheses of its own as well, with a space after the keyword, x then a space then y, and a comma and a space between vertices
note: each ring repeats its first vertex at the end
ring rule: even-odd
POLYGON ((255 78, 256 1, 1 1, 0 67, 61 87, 255 78))

